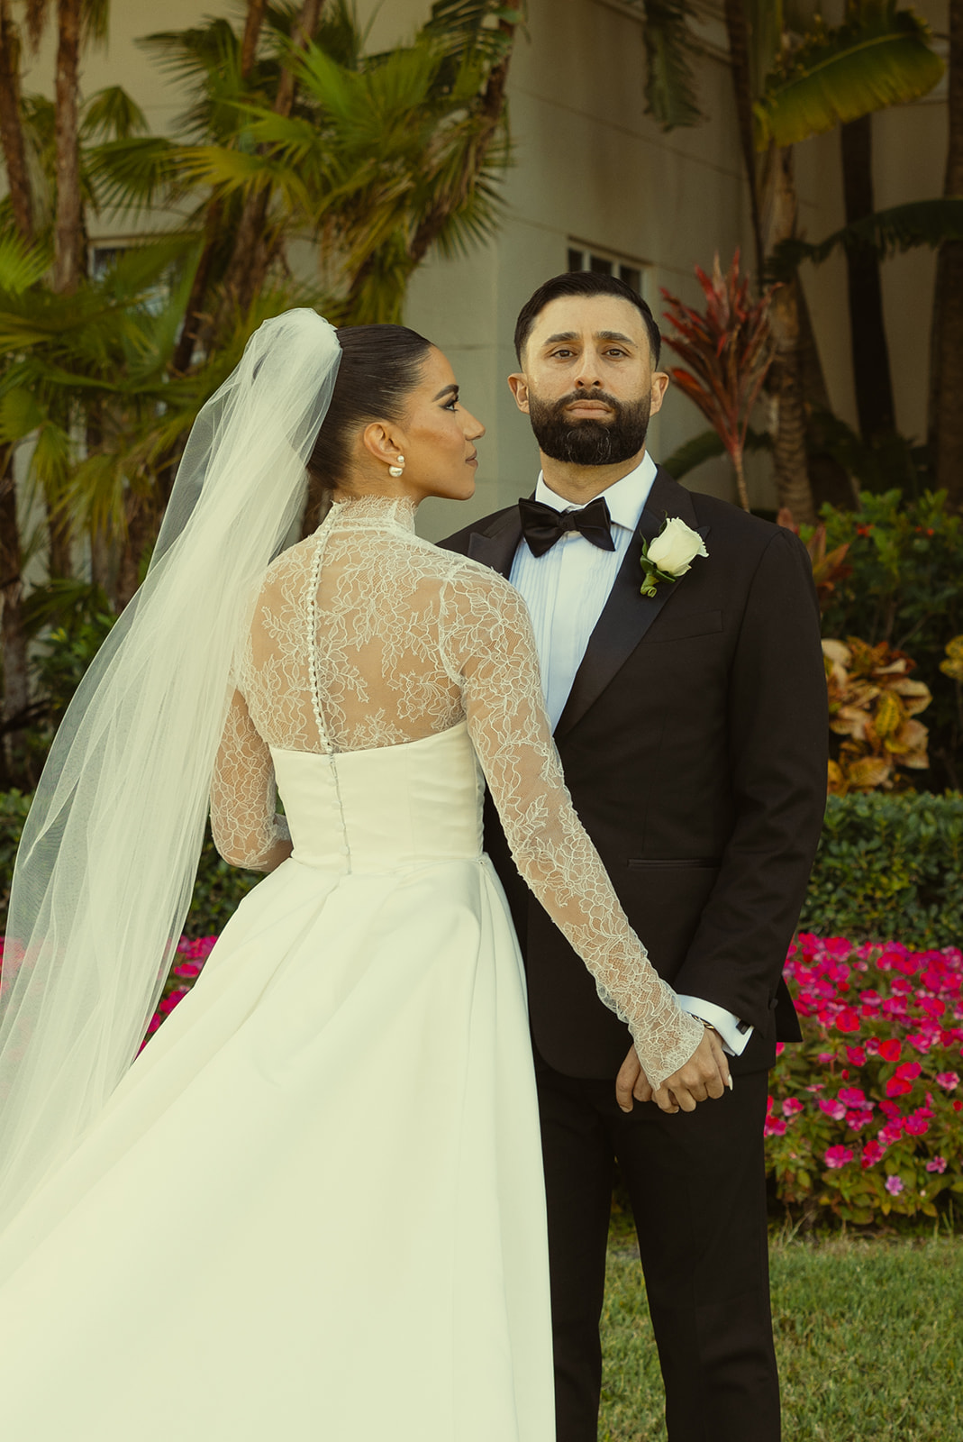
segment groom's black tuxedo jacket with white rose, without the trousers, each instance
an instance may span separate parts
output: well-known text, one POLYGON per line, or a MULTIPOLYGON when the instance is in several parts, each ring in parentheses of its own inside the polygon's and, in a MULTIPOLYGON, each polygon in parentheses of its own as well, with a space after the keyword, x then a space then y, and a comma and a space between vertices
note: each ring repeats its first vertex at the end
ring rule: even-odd
MULTIPOLYGON (((520 539, 510 506, 443 545, 507 577, 520 539)), ((819 844, 827 741, 804 547, 659 467, 555 743, 656 969, 753 1025, 735 1073, 771 1066, 777 1040, 800 1038, 783 962, 819 844), (709 554, 644 597, 642 542, 666 516, 709 554)), ((486 848, 519 934, 538 1051, 568 1076, 614 1076, 629 1030, 522 881, 490 800, 486 848)))

